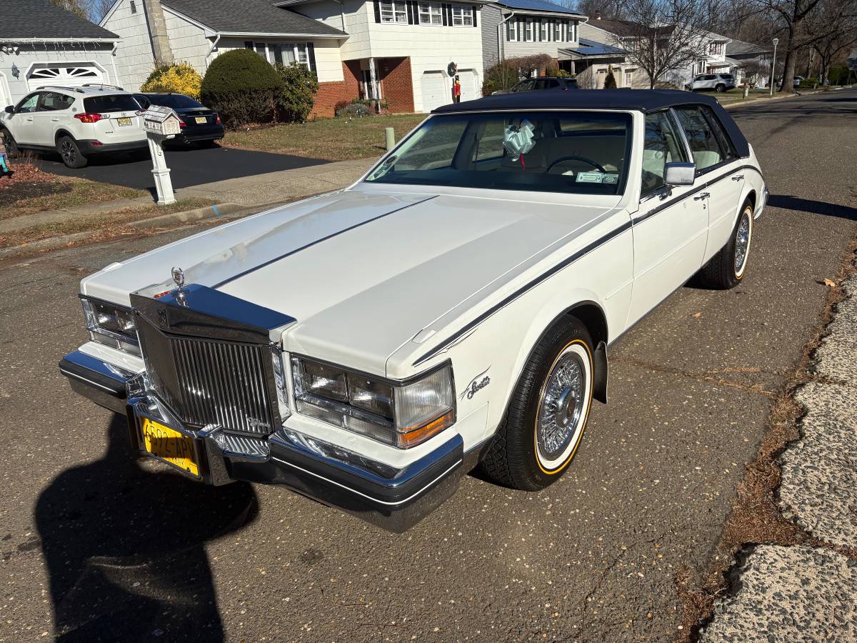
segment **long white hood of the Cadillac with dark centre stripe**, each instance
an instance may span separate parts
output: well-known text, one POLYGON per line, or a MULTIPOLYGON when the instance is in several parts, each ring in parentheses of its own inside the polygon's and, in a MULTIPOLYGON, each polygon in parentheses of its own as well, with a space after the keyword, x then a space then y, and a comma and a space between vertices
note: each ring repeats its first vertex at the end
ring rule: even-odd
POLYGON ((294 317, 286 350, 384 375, 421 329, 611 209, 345 190, 172 243, 82 286, 127 303, 130 291, 174 287, 180 266, 189 284, 294 317))

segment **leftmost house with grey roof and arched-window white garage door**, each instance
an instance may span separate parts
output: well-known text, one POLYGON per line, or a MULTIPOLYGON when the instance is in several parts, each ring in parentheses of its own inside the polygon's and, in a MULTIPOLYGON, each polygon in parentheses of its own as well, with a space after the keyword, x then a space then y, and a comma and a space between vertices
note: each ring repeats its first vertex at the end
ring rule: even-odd
POLYGON ((49 0, 0 2, 0 109, 45 85, 118 82, 119 36, 49 0))

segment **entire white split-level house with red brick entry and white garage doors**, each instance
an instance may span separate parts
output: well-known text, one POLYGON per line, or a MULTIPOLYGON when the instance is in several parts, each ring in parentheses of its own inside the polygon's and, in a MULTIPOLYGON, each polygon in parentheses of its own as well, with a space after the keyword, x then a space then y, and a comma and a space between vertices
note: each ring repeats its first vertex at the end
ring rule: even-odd
POLYGON ((431 111, 452 102, 455 75, 462 100, 480 95, 480 2, 117 0, 101 25, 122 36, 117 66, 133 89, 159 50, 204 75, 214 57, 244 47, 315 71, 316 116, 353 99, 431 111))

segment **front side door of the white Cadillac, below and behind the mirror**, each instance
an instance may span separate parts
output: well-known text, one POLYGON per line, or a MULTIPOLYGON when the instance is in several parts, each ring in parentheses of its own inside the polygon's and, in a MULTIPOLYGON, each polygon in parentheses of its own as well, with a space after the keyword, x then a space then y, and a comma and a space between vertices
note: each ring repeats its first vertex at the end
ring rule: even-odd
POLYGON ((686 162, 680 131, 669 111, 645 117, 643 187, 633 215, 634 285, 627 326, 661 303, 702 265, 708 233, 704 192, 664 184, 665 165, 686 162))

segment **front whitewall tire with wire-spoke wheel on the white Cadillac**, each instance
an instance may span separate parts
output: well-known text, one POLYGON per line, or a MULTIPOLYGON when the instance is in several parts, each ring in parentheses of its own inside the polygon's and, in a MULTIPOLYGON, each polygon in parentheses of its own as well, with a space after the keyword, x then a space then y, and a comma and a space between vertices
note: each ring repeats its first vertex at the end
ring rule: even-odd
POLYGON ((592 337, 574 317, 542 337, 482 459, 488 478, 536 491, 560 478, 577 452, 592 403, 592 337))

